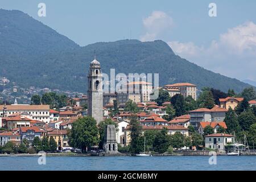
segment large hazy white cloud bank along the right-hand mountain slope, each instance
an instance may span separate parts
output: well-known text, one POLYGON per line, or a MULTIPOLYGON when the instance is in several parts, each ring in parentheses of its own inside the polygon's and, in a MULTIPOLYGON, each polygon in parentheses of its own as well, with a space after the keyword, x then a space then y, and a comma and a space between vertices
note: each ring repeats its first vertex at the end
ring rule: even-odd
POLYGON ((220 35, 210 46, 168 42, 177 55, 226 76, 256 80, 256 24, 246 22, 220 35))

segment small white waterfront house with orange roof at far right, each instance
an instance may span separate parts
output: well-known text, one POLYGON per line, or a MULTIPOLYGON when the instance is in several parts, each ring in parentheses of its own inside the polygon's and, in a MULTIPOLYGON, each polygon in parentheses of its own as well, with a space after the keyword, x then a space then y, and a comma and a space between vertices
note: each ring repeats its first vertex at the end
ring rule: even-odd
POLYGON ((204 141, 205 148, 225 151, 225 146, 227 144, 234 143, 234 136, 230 134, 216 133, 205 136, 204 141))

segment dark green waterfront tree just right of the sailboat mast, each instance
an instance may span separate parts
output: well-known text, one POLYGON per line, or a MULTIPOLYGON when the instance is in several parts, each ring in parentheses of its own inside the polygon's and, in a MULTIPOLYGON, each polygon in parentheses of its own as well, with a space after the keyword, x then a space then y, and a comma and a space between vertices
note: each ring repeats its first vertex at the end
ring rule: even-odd
POLYGON ((164 153, 170 146, 170 136, 167 135, 167 129, 163 128, 159 133, 156 134, 153 142, 153 148, 155 152, 164 153))

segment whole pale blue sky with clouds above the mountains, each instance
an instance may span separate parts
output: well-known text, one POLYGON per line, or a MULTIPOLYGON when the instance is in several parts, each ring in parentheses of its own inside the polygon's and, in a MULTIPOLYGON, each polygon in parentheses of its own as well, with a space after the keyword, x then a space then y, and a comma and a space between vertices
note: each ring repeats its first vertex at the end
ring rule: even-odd
POLYGON ((256 1, 1 0, 80 46, 120 39, 167 42, 177 55, 214 72, 256 81, 256 1), (46 17, 38 4, 46 3, 46 17), (209 3, 217 17, 208 15, 209 3))

